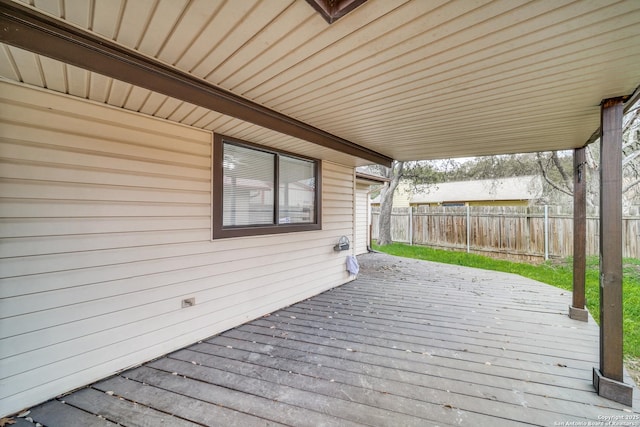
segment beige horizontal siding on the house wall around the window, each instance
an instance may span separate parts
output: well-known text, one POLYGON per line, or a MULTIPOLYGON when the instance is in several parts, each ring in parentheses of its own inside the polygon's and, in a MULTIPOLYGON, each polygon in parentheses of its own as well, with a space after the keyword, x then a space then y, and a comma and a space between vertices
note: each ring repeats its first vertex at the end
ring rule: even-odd
POLYGON ((0 82, 0 415, 349 280, 351 167, 322 163, 323 230, 212 241, 211 147, 0 82))

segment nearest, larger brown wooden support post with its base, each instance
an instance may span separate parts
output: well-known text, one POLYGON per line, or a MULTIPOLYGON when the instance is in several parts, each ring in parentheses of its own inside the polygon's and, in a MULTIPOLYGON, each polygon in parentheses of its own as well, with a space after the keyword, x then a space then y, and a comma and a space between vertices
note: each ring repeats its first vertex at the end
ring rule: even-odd
POLYGON ((622 361, 622 98, 605 99, 600 124, 600 396, 631 406, 622 361))

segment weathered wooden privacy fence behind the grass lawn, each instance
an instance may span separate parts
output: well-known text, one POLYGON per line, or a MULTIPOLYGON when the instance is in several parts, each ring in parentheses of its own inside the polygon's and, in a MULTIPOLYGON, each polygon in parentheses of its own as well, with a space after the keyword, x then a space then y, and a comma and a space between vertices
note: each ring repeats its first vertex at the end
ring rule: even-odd
MULTIPOLYGON (((378 237, 379 209, 372 212, 378 237)), ((623 218, 623 256, 640 258, 640 216, 623 218)), ((599 219, 587 215, 587 255, 598 255, 599 219)), ((419 207, 394 209, 394 242, 485 253, 514 259, 573 255, 573 215, 555 206, 419 207)))

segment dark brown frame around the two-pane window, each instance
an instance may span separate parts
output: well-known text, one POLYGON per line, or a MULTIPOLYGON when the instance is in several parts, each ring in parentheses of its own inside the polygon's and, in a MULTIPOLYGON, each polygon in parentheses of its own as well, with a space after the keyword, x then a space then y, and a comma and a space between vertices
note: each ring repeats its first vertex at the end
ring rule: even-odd
MULTIPOLYGON (((286 151, 274 150, 269 147, 260 146, 250 142, 242 141, 239 139, 227 137, 220 134, 214 134, 213 136, 213 197, 212 197, 212 222, 213 222, 213 238, 225 239, 231 237, 246 237, 246 236, 258 236, 266 234, 280 234, 280 233, 293 233, 300 231, 315 231, 322 229, 322 161, 312 159, 306 156, 300 156, 298 154, 289 153, 286 151), (311 160, 315 164, 315 176, 316 176, 316 191, 315 191, 315 222, 310 224, 277 224, 277 216, 274 217, 273 225, 258 225, 248 227, 223 227, 223 170, 222 164, 224 160, 223 156, 223 143, 231 142, 234 144, 263 150, 270 153, 283 154, 292 157, 298 157, 305 160, 311 160)), ((278 188, 278 187, 276 187, 278 188)), ((275 199, 276 210, 279 206, 277 197, 275 199)))

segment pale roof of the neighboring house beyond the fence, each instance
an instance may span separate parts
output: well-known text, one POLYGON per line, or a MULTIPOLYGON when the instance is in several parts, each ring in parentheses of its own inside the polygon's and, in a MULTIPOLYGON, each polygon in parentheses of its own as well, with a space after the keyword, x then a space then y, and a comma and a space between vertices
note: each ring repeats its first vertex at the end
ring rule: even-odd
POLYGON ((542 196, 542 181, 537 176, 520 176, 479 181, 445 182, 423 186, 409 196, 412 204, 452 203, 496 200, 533 200, 542 196))

